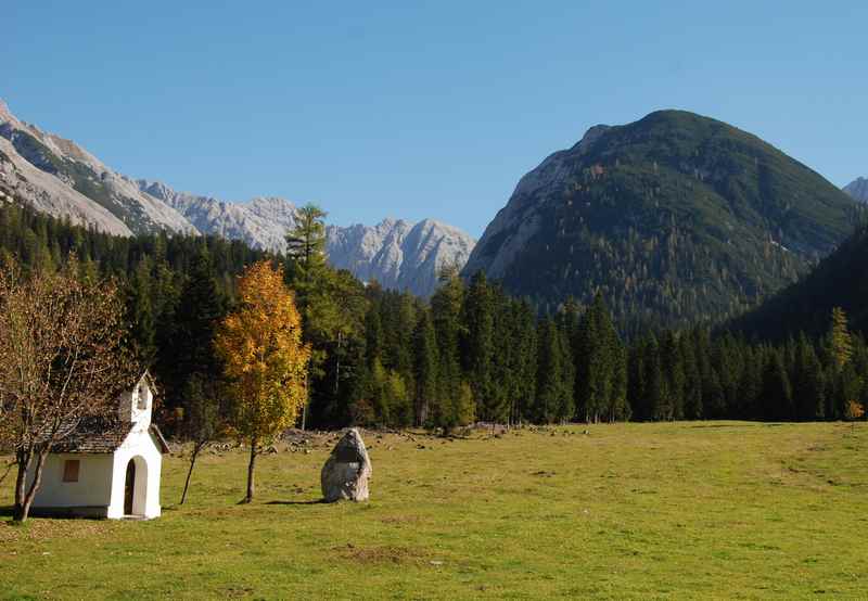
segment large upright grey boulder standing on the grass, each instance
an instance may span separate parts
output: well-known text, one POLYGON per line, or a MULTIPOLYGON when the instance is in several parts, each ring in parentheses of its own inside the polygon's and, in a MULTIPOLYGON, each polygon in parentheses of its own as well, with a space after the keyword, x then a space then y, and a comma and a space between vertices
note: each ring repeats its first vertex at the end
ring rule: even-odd
POLYGON ((359 431, 349 429, 337 442, 322 466, 320 485, 327 503, 348 499, 368 500, 371 460, 359 431))

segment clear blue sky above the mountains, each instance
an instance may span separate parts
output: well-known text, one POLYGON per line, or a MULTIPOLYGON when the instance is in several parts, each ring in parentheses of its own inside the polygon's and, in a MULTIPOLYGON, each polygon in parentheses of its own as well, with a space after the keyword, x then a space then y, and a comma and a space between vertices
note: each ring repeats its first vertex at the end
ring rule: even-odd
POLYGON ((0 98, 127 175, 340 225, 480 235, 546 155, 665 107, 868 176, 868 3, 703 4, 7 0, 0 98))

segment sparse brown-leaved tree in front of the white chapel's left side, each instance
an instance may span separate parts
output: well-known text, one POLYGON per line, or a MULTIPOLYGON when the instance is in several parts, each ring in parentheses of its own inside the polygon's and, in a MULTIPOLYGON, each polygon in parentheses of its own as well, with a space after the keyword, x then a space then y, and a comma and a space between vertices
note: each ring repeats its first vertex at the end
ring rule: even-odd
POLYGON ((13 519, 27 519, 46 458, 84 418, 108 415, 135 375, 115 283, 0 266, 0 442, 15 453, 13 519), (27 484, 28 470, 33 479, 27 484))

